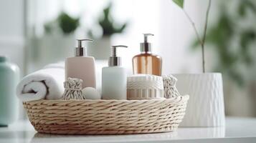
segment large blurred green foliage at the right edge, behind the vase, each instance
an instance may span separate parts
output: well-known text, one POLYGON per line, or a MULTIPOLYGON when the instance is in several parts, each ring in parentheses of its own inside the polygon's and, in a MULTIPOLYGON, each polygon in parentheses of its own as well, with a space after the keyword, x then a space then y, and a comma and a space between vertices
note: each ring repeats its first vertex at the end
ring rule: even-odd
MULTIPOLYGON (((256 16, 255 2, 240 0, 232 13, 228 12, 228 2, 222 2, 219 9, 217 23, 209 28, 206 44, 212 45, 219 57, 215 71, 221 71, 240 86, 245 84, 245 75, 242 68, 249 69, 255 62, 250 49, 256 38, 255 26, 245 26, 239 21, 247 21, 256 16)), ((199 47, 194 41, 193 47, 199 47)))

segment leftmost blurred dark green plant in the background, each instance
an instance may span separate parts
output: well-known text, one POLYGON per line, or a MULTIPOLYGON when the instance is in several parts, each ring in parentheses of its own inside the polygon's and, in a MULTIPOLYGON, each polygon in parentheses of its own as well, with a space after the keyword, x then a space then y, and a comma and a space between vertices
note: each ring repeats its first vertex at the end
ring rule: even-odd
POLYGON ((63 34, 72 34, 79 26, 79 21, 79 18, 73 18, 65 12, 61 12, 57 19, 44 24, 44 31, 49 34, 55 28, 60 28, 63 34))

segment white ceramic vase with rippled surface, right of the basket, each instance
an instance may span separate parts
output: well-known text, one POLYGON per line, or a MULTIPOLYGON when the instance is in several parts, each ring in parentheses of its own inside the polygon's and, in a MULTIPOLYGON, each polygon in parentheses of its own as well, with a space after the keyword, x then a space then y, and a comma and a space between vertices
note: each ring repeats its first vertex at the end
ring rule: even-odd
POLYGON ((189 94, 181 127, 223 127, 225 125, 222 74, 174 74, 179 93, 189 94))

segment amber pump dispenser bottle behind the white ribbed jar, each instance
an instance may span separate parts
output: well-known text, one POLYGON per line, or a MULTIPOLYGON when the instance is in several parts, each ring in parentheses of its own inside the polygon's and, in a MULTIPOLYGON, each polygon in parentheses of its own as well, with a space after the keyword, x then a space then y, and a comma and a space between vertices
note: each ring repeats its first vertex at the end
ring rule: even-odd
POLYGON ((151 43, 148 36, 153 34, 143 34, 144 42, 141 43, 141 54, 133 56, 133 74, 153 74, 161 76, 162 58, 151 52, 151 43))

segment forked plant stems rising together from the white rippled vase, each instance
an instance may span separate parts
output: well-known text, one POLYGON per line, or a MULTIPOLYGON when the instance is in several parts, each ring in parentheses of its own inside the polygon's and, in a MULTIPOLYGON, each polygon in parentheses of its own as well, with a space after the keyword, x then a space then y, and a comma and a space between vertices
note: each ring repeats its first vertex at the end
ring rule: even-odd
POLYGON ((196 38, 198 43, 200 44, 200 46, 202 47, 202 69, 203 72, 205 72, 205 58, 204 58, 204 44, 205 44, 205 40, 207 38, 207 25, 208 25, 208 17, 209 17, 209 11, 211 8, 211 4, 212 4, 212 0, 209 0, 209 4, 207 6, 207 14, 206 14, 206 18, 205 18, 205 23, 204 23, 204 32, 203 32, 203 36, 201 38, 201 36, 199 36, 199 31, 196 29, 196 25, 194 24, 194 21, 191 19, 191 17, 189 16, 189 14, 186 12, 186 10, 184 9, 184 0, 172 0, 174 1, 174 3, 179 6, 183 11, 184 14, 186 15, 186 17, 189 19, 191 25, 194 28, 194 31, 196 33, 196 38))

